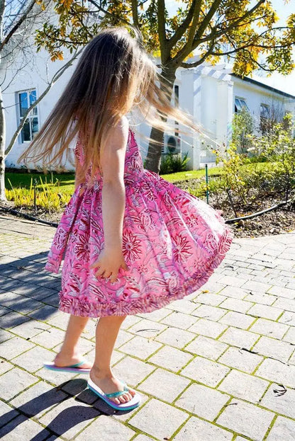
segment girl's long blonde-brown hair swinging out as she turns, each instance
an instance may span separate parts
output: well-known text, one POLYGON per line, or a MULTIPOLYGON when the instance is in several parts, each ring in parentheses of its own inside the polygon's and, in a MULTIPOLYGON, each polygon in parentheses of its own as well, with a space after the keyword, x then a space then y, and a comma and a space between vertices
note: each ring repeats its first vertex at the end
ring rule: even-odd
POLYGON ((163 90, 160 82, 139 38, 132 38, 126 28, 103 30, 85 46, 65 91, 18 162, 59 167, 69 159, 69 143, 79 133, 84 171, 91 165, 93 177, 108 132, 133 108, 159 130, 165 131, 167 118, 173 118, 199 132, 190 115, 171 105, 168 87, 163 90))

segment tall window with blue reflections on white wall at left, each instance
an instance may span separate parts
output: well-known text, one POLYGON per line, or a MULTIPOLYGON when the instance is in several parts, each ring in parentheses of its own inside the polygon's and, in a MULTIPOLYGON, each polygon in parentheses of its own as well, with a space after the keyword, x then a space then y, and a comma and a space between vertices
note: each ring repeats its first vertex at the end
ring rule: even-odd
MULTIPOLYGON (((21 122, 26 111, 35 103, 37 99, 37 93, 34 90, 18 92, 17 102, 18 102, 18 123, 21 122)), ((38 122, 38 109, 37 106, 28 114, 26 122, 21 130, 21 142, 30 142, 33 140, 34 134, 39 130, 38 122)))

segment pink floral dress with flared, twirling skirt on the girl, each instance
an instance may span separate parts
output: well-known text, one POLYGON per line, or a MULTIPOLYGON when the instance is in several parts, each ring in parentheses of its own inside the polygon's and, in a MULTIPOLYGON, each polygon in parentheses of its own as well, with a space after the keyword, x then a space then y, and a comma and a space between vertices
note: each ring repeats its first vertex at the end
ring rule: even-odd
MULTIPOLYGON (((83 147, 75 149, 83 164, 83 147)), ((124 181, 123 255, 129 270, 117 282, 96 278, 89 265, 104 248, 103 179, 77 187, 57 227, 45 269, 57 273, 62 258, 60 310, 77 316, 150 312, 204 285, 230 248, 232 230, 198 197, 143 168, 129 131, 124 181)))

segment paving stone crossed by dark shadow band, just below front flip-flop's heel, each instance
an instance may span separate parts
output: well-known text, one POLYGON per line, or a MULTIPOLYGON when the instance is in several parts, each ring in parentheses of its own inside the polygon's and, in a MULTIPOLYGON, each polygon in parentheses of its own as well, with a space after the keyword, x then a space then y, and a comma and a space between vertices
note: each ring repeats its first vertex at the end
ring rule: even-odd
MULTIPOLYGON (((89 420, 96 416, 99 416, 99 411, 96 408, 70 398, 45 413, 40 418, 40 423, 66 440, 70 440, 89 424, 89 420)), ((94 421, 95 423, 96 421, 94 421)))

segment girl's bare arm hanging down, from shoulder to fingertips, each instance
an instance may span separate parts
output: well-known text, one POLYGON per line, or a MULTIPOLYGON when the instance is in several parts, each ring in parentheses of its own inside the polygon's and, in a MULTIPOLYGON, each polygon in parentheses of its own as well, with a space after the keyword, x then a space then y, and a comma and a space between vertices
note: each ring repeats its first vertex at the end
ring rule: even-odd
POLYGON ((104 251, 91 268, 99 268, 96 277, 111 277, 115 282, 119 268, 128 269, 122 252, 122 231, 125 212, 124 164, 128 142, 128 120, 113 128, 101 154, 103 173, 102 217, 104 251))

